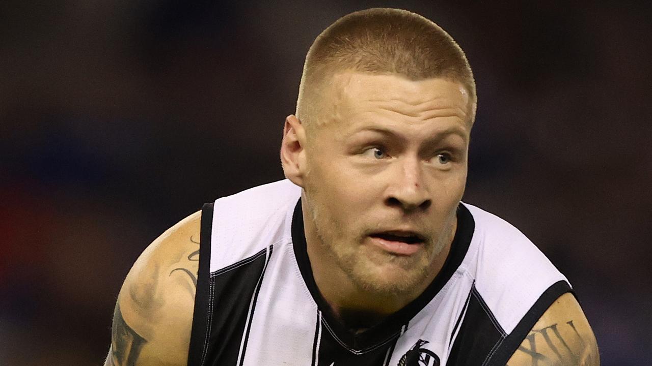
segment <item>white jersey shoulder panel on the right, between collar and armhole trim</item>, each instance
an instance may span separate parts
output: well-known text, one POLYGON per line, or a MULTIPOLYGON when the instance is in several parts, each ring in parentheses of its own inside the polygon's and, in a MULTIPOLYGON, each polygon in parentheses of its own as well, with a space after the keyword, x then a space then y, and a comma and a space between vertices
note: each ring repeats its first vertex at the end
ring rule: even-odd
POLYGON ((571 285, 516 227, 481 208, 465 206, 475 229, 464 266, 473 276, 476 295, 501 331, 527 332, 551 303, 572 290, 571 285))

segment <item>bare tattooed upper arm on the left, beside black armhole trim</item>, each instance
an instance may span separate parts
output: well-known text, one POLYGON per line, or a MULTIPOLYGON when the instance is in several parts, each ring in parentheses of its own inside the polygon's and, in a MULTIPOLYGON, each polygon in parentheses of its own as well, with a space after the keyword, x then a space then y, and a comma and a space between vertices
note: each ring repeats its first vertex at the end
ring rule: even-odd
POLYGON ((104 366, 186 366, 200 219, 196 212, 156 238, 126 275, 104 366))

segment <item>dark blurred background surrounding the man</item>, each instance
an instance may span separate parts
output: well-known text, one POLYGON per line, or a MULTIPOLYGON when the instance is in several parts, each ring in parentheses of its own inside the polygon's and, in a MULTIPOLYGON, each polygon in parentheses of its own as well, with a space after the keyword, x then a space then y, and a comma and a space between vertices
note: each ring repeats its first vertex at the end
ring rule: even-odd
POLYGON ((283 177, 304 55, 402 7, 464 48, 479 109, 465 201, 574 285, 603 365, 649 365, 649 2, 0 3, 0 365, 101 365, 140 252, 216 197, 283 177))

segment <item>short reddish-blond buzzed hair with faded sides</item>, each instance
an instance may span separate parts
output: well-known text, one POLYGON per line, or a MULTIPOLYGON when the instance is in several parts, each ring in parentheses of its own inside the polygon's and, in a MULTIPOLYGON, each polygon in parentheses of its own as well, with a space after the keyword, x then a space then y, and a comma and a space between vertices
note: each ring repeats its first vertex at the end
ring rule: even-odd
POLYGON ((462 48, 439 25, 408 10, 370 8, 348 14, 312 43, 301 75, 296 115, 306 127, 322 121, 323 89, 338 72, 398 74, 411 81, 442 77, 469 94, 469 124, 477 97, 462 48))

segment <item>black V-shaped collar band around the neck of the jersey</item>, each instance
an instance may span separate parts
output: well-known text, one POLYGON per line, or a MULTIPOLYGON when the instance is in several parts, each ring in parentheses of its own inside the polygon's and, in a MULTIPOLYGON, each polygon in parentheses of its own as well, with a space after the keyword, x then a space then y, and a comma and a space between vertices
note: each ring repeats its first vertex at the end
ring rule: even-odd
POLYGON ((294 214, 292 217, 292 242, 294 246, 295 257, 299 264, 299 270, 303 276, 303 280, 310 290, 312 298, 317 303, 319 311, 323 316, 325 322, 333 333, 342 343, 349 346, 354 350, 368 350, 375 348, 395 337, 400 335, 402 326, 408 324, 411 318, 415 317, 424 306, 426 306, 434 296, 441 290, 442 287, 451 279, 452 274, 460 266, 466 252, 469 249, 473 231, 475 229, 475 221, 471 212, 461 204, 457 210, 457 231, 451 244, 451 251, 444 262, 441 271, 435 279, 428 285, 426 290, 419 295, 411 303, 408 303, 403 309, 400 309, 393 315, 385 318, 380 324, 364 330, 361 333, 353 333, 340 322, 338 317, 335 317, 331 307, 326 300, 321 296, 315 279, 312 275, 312 268, 310 267, 310 260, 308 259, 308 251, 306 250, 306 236, 303 226, 303 212, 301 210, 301 199, 295 206, 294 214))

